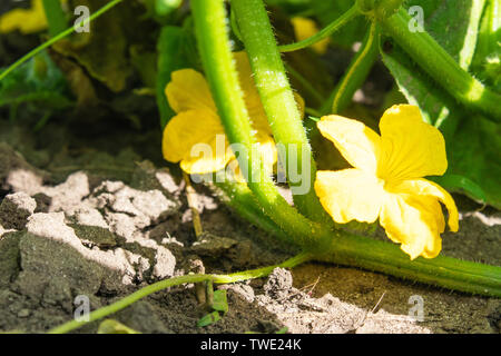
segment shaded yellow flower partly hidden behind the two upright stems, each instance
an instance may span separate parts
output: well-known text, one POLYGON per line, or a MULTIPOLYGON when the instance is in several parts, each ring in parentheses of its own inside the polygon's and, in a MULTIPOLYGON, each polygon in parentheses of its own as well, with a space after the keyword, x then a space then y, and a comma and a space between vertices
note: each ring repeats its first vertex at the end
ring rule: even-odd
MULTIPOLYGON (((236 52, 234 57, 264 167, 273 169, 273 165, 277 161, 275 141, 252 78, 247 55, 236 52)), ((204 76, 193 69, 174 71, 165 92, 170 107, 177 115, 164 129, 161 145, 164 158, 170 162, 180 162, 184 171, 195 175, 215 172, 224 169, 228 164, 238 168, 204 76), (220 138, 224 138, 223 149, 216 147, 217 137, 219 137, 219 144, 220 138), (196 145, 199 144, 205 144, 212 155, 203 155, 196 149, 196 145), (194 152, 193 148, 195 148, 194 152)), ((303 111, 303 99, 296 96, 296 101, 303 111)), ((238 176, 239 170, 234 171, 238 176)))

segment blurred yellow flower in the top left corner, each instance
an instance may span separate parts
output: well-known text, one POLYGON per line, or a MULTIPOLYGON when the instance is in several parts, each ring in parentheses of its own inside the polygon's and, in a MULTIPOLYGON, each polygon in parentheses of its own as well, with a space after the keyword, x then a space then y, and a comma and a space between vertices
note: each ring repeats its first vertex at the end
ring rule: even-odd
POLYGON ((42 0, 31 0, 30 9, 13 9, 0 16, 0 33, 14 30, 22 34, 40 32, 47 28, 42 0))

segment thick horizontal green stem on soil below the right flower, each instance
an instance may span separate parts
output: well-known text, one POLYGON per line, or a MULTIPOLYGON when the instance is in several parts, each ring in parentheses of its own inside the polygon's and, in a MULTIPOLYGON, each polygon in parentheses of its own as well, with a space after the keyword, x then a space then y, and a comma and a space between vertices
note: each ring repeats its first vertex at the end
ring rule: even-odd
POLYGON ((444 256, 411 260, 397 245, 361 236, 337 234, 331 248, 314 258, 453 290, 501 297, 501 267, 444 256))

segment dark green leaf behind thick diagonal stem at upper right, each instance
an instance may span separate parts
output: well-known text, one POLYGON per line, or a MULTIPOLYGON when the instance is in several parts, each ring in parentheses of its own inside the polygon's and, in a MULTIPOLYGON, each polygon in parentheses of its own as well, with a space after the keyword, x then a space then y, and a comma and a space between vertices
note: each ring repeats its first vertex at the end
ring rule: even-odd
MULTIPOLYGON (((485 1, 415 0, 409 4, 411 2, 423 8, 426 31, 468 70, 485 1)), ((464 192, 500 208, 500 125, 464 110, 438 85, 440 78, 430 78, 397 46, 381 52, 407 101, 419 106, 424 119, 445 137, 449 169, 443 177, 432 179, 451 191, 464 192)))

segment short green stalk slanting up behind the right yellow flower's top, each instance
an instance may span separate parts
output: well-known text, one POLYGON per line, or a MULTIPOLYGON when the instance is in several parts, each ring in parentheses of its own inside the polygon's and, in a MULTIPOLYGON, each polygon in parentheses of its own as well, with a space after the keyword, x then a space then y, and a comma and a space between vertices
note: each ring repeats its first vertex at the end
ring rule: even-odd
MULTIPOLYGON (((350 63, 346 73, 341 79, 340 83, 334 89, 332 98, 328 103, 332 113, 338 113, 346 109, 353 99, 355 91, 363 85, 365 79, 374 65, 377 55, 377 38, 379 30, 376 21, 372 21, 371 28, 364 39, 362 48, 355 55, 355 58, 350 63)), ((324 112, 326 110, 323 110, 324 112)), ((325 112, 327 113, 327 112, 325 112)))

